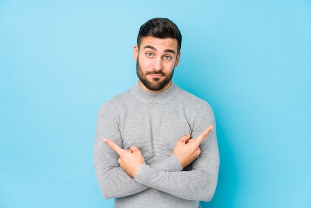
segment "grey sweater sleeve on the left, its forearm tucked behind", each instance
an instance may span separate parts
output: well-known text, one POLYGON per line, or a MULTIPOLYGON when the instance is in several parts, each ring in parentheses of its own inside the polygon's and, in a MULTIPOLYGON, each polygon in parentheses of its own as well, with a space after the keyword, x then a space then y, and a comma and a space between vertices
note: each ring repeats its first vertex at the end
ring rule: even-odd
MULTIPOLYGON (((120 168, 119 155, 106 145, 102 138, 107 137, 123 148, 118 117, 109 104, 103 104, 97 115, 93 163, 100 191, 105 199, 126 197, 149 188, 120 168)), ((154 170, 181 171, 182 166, 174 154, 166 160, 150 166, 154 170)))

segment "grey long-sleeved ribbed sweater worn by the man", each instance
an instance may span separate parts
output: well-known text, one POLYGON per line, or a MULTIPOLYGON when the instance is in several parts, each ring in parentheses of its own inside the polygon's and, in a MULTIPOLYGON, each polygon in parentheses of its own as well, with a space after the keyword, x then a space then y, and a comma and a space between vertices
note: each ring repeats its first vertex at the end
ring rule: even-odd
POLYGON ((210 105, 172 86, 149 93, 137 83, 101 105, 96 122, 93 161, 105 199, 115 208, 198 208, 214 195, 219 169, 214 113, 210 105), (199 158, 185 169, 172 154, 185 134, 201 143, 199 158), (102 141, 106 137, 124 149, 137 146, 145 158, 135 179, 118 164, 119 156, 102 141))

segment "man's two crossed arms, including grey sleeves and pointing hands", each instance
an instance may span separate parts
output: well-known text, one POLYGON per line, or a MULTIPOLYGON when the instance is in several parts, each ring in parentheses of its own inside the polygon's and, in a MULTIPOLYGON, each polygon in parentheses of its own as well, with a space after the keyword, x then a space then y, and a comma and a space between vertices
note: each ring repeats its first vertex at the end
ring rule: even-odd
POLYGON ((106 113, 112 110, 108 107, 99 111, 94 144, 95 172, 105 199, 126 197, 149 188, 186 200, 209 201, 212 198, 219 167, 216 131, 212 127, 202 128, 203 123, 215 125, 214 119, 205 119, 212 111, 200 111, 202 116, 195 121, 197 124, 194 123, 192 131, 192 136, 197 139, 190 139, 189 134, 182 136, 171 156, 146 165, 137 147, 123 149, 119 125, 111 113, 106 113), (103 142, 103 137, 113 138, 114 142, 106 138, 103 142), (182 171, 190 163, 192 170, 182 171))

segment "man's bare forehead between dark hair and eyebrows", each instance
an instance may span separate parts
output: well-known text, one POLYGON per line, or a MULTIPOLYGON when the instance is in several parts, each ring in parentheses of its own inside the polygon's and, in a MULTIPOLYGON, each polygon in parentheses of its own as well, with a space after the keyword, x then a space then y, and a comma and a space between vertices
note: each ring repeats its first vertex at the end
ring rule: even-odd
POLYGON ((141 49, 144 49, 146 46, 152 46, 156 50, 166 50, 172 49, 177 52, 178 42, 173 38, 156 38, 152 36, 147 36, 142 38, 142 42, 140 45, 141 49))

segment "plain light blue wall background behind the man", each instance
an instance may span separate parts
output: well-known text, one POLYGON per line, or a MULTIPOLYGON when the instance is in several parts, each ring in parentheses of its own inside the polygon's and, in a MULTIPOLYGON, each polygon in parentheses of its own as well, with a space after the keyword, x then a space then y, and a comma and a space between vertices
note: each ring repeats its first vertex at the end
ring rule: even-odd
POLYGON ((173 80, 217 119, 219 183, 202 208, 310 208, 310 0, 0 0, 0 207, 112 207, 96 114, 137 82, 153 17, 178 25, 173 80))

